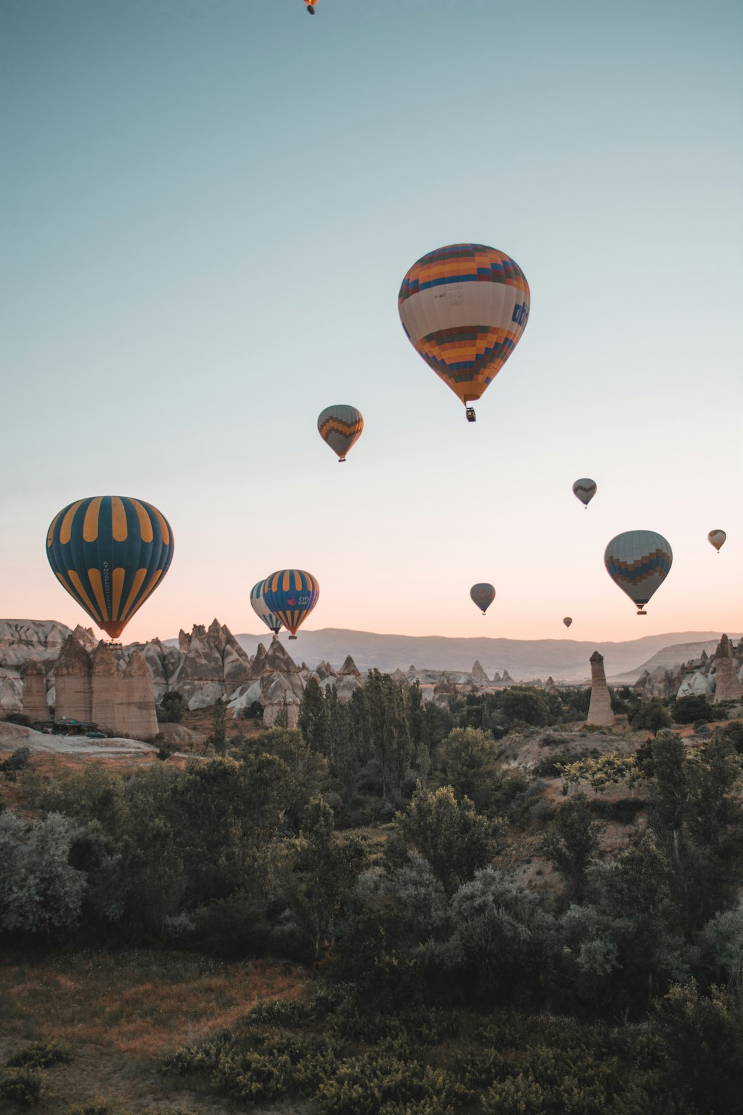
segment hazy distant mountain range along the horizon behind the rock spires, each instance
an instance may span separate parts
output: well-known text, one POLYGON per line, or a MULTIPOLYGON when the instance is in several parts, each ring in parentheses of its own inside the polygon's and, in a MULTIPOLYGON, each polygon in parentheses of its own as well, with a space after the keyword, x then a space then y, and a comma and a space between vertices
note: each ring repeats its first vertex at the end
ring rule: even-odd
MULTIPOLYGON (((727 632, 732 636, 732 632, 727 632)), ((443 636, 377 634, 372 631, 350 631, 344 628, 323 628, 320 631, 301 630, 296 642, 284 642, 292 658, 314 668, 327 661, 340 668, 351 655, 360 670, 373 667, 384 673, 410 666, 431 670, 471 670, 479 661, 492 677, 508 670, 517 681, 531 681, 551 676, 555 681, 581 682, 590 678, 588 659, 595 650, 604 656, 607 678, 632 672, 634 680, 645 663, 678 665, 696 658, 702 648, 714 650, 722 632, 674 631, 668 634, 643 636, 626 642, 593 642, 576 639, 449 639, 443 636), (697 649, 698 648, 698 649, 697 649), (711 649, 710 649, 711 648, 711 649), (663 656, 681 655, 668 659, 663 656), (657 661, 656 661, 657 657, 657 661)), ((271 633, 238 634, 241 647, 254 655, 260 642, 267 646, 271 633)), ((652 667, 651 667, 652 668, 652 667)))

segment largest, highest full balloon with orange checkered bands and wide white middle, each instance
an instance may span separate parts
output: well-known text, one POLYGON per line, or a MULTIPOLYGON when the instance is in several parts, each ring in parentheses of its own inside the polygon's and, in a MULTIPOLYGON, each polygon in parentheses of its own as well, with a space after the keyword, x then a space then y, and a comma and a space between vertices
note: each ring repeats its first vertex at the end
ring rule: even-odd
POLYGON ((529 320, 518 263, 485 244, 448 244, 413 263, 398 295, 408 340, 475 421, 480 398, 529 320))

